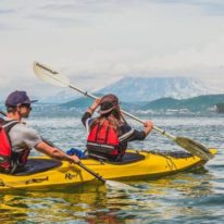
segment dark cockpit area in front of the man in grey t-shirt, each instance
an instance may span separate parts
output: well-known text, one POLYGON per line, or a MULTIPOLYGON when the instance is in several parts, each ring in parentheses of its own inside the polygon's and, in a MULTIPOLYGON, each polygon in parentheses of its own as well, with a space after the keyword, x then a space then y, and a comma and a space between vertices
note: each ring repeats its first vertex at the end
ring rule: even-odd
POLYGON ((58 167, 61 164, 62 164, 61 161, 52 160, 52 159, 47 159, 47 160, 46 159, 28 159, 26 166, 13 175, 23 176, 23 175, 45 172, 50 169, 58 167))

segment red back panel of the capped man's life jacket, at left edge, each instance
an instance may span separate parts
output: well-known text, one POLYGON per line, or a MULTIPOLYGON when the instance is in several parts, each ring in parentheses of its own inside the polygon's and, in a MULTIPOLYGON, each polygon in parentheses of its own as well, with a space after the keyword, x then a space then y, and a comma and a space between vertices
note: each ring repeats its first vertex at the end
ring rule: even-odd
POLYGON ((5 172, 10 171, 12 161, 12 146, 9 132, 17 123, 18 121, 4 121, 0 117, 0 169, 5 172))

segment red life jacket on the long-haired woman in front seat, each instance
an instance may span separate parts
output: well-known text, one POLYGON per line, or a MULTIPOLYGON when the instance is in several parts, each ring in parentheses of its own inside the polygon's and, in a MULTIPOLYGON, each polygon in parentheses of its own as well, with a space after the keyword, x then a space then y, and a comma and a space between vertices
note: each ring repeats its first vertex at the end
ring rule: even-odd
POLYGON ((108 121, 95 124, 87 138, 87 150, 90 155, 116 159, 123 154, 119 149, 119 136, 108 121))

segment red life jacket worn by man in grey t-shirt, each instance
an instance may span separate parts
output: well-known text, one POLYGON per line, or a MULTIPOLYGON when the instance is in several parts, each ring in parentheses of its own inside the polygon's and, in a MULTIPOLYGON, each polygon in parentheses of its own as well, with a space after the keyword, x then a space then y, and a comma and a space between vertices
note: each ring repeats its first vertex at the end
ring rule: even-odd
POLYGON ((11 128, 20 123, 18 121, 4 121, 0 119, 0 167, 5 172, 10 172, 12 169, 15 169, 16 160, 22 164, 26 164, 29 150, 23 150, 20 153, 12 152, 11 139, 9 132, 11 128))

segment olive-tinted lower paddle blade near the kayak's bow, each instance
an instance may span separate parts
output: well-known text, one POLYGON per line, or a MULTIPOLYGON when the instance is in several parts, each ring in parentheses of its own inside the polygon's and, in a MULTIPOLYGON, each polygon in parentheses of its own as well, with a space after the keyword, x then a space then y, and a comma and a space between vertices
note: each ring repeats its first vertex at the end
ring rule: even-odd
POLYGON ((199 157, 201 160, 208 161, 214 155, 203 145, 185 137, 176 137, 176 144, 189 151, 191 154, 199 157))

